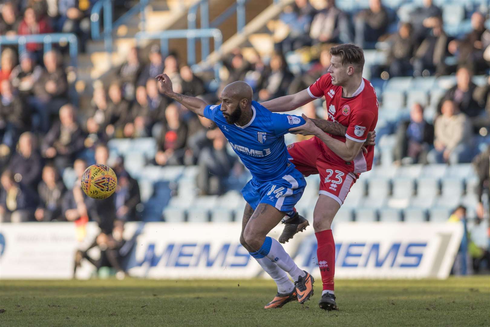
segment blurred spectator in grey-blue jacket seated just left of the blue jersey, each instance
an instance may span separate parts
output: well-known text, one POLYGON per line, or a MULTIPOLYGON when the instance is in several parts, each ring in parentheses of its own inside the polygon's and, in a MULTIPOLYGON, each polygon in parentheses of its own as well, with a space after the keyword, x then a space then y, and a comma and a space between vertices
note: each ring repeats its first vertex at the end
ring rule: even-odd
POLYGON ((237 162, 226 151, 226 139, 221 131, 214 129, 211 134, 213 146, 202 149, 197 162, 200 195, 222 195, 226 191, 226 178, 237 162))

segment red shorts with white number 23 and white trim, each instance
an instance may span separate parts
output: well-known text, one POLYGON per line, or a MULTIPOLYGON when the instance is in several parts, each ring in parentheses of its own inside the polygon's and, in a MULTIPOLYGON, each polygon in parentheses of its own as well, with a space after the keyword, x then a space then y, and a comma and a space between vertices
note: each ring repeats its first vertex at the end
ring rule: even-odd
MULTIPOLYGON (((321 141, 320 141, 321 142, 321 141)), ((330 163, 318 144, 316 137, 288 145, 289 160, 304 176, 320 175, 319 194, 326 195, 343 204, 347 193, 359 176, 346 167, 330 163)))

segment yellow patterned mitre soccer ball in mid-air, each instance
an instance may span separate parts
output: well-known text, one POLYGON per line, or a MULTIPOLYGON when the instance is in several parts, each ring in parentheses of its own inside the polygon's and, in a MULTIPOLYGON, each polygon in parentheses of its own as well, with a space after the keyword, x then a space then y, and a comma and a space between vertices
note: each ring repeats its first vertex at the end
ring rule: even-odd
POLYGON ((95 164, 82 175, 82 190, 91 198, 107 199, 116 190, 118 178, 111 167, 95 164))

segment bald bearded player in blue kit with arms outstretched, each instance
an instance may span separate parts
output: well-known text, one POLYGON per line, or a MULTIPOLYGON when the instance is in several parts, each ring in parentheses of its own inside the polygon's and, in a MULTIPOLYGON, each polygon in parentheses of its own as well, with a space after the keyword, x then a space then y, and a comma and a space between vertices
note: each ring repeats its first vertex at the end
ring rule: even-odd
POLYGON ((305 121, 293 115, 272 113, 252 101, 252 88, 243 81, 223 89, 220 105, 208 105, 201 99, 173 92, 168 75, 156 78, 160 91, 167 97, 217 124, 253 176, 242 190, 247 204, 240 243, 276 282, 277 295, 264 308, 309 300, 313 296, 314 278, 294 263, 277 240, 267 236, 285 214, 297 215, 294 205, 306 182, 288 160, 284 134, 305 121))

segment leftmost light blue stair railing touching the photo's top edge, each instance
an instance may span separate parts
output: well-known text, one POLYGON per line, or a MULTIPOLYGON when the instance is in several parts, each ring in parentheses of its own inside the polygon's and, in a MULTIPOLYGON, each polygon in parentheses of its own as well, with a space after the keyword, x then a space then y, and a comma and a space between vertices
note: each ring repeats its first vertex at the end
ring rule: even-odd
POLYGON ((129 9, 123 16, 118 18, 115 22, 112 22, 112 8, 113 1, 112 0, 98 0, 94 6, 92 7, 92 11, 90 12, 90 20, 91 20, 91 34, 92 40, 101 40, 104 39, 104 47, 107 52, 112 52, 112 31, 116 29, 118 26, 123 25, 125 22, 129 21, 131 17, 140 13, 141 15, 141 24, 143 29, 146 26, 146 17, 145 17, 145 7, 147 6, 149 0, 140 0, 140 2, 131 9, 129 9), (100 15, 103 14, 103 31, 100 33, 100 15))

